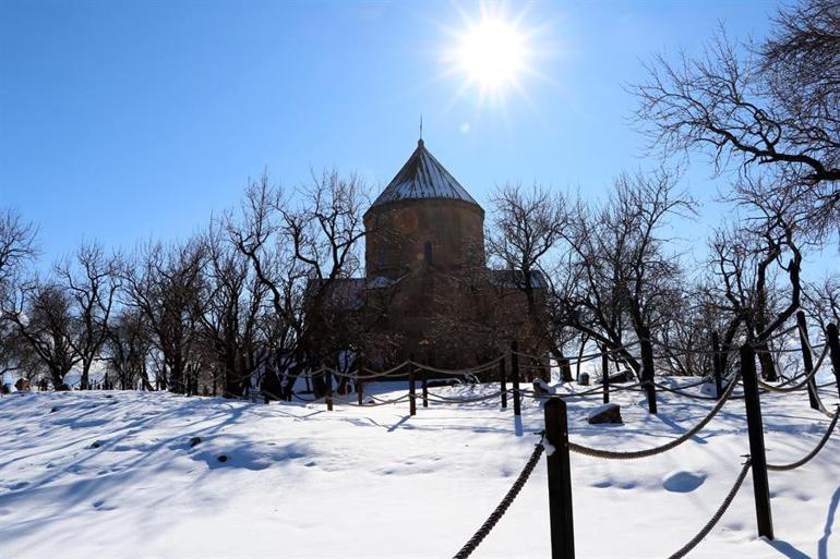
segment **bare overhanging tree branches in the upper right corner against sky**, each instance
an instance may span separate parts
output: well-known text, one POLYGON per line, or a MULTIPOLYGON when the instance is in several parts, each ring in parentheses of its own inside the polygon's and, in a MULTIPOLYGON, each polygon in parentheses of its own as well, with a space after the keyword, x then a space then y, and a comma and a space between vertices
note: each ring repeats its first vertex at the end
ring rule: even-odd
POLYGON ((782 8, 770 36, 736 45, 721 31, 704 57, 656 57, 633 87, 637 118, 663 154, 695 148, 716 171, 764 168, 806 208, 817 233, 840 224, 840 4, 782 8))

